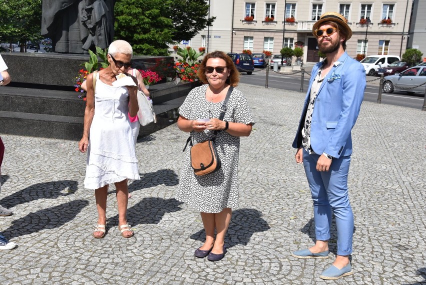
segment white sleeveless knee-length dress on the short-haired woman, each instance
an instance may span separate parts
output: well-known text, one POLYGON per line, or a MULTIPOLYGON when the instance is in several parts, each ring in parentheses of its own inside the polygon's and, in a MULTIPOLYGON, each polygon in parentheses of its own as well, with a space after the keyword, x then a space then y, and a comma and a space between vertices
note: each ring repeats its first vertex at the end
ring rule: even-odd
POLYGON ((97 189, 126 178, 140 179, 128 119, 128 91, 99 80, 94 93, 84 187, 97 189))

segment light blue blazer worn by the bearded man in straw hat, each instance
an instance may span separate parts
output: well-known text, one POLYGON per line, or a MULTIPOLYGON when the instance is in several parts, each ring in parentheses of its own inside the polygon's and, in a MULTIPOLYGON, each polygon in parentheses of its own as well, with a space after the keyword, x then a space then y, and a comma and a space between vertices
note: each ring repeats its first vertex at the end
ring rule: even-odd
MULTIPOLYGON (((312 149, 333 157, 352 153, 350 131, 359 114, 365 90, 365 69, 361 63, 344 52, 325 76, 316 96, 310 127, 312 149)), ((312 68, 309 87, 304 100, 299 127, 292 146, 301 146, 304 119, 310 97, 310 88, 323 62, 312 68)))

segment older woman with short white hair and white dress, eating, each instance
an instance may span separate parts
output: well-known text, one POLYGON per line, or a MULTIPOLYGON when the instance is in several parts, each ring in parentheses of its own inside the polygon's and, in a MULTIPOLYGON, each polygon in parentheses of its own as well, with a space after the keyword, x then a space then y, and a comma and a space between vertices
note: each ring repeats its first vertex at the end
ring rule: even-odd
MULTIPOLYGON (((94 189, 98 213, 93 236, 102 238, 106 229, 106 197, 109 183, 114 183, 118 205, 118 229, 123 237, 133 230, 126 220, 127 179, 140 179, 129 115, 138 111, 135 85, 113 86, 116 76, 130 67, 131 45, 124 40, 113 41, 108 48, 109 66, 87 76, 87 98, 83 136, 78 143, 81 152, 87 150, 84 187, 94 189)), ((122 75, 121 75, 122 76, 122 75)))

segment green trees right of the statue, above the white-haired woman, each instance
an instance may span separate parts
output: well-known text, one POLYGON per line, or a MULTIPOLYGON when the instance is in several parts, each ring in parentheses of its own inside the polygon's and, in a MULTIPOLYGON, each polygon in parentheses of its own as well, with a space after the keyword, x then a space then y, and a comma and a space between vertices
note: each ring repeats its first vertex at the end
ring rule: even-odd
POLYGON ((115 3, 115 38, 135 54, 168 55, 168 44, 192 38, 211 25, 204 0, 120 0, 115 3))

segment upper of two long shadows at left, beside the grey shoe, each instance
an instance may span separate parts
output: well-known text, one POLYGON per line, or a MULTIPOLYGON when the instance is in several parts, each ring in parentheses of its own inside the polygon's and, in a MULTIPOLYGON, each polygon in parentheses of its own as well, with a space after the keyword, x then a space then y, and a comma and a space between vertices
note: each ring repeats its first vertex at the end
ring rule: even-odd
MULTIPOLYGON (((2 185, 1 187, 4 190, 7 187, 7 184, 2 185)), ((74 193, 77 190, 77 187, 78 182, 74 180, 58 180, 36 183, 2 198, 0 200, 0 205, 10 208, 36 199, 54 199, 58 196, 67 196, 74 193)))

